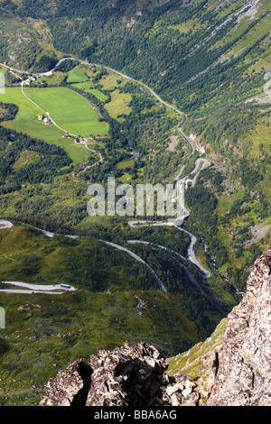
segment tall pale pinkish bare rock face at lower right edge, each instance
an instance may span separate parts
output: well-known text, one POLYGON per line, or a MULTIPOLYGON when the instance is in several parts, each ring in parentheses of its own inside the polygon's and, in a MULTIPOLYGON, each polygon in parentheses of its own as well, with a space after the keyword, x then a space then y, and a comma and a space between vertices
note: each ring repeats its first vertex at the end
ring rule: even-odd
POLYGON ((229 314, 213 375, 209 406, 271 406, 271 249, 229 314))

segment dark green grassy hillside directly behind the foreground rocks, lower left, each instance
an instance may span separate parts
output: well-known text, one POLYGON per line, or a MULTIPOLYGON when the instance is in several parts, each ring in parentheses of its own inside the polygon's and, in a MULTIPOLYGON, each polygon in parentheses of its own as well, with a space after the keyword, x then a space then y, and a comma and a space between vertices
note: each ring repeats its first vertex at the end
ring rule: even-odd
POLYGON ((0 231, 0 253, 0 281, 64 282, 78 289, 62 295, 0 292, 2 405, 34 405, 58 370, 101 348, 145 341, 173 355, 202 340, 220 315, 192 287, 183 285, 179 295, 157 290, 141 263, 93 237, 48 238, 13 226, 0 231))

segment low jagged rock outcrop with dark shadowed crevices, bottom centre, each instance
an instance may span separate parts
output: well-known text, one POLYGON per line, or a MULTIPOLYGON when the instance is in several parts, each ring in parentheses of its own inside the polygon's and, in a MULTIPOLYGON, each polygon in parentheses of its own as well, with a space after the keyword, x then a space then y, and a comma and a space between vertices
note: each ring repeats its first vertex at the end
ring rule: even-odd
POLYGON ((169 377, 154 346, 125 344, 70 364, 47 383, 41 406, 181 406, 200 399, 186 374, 169 377))

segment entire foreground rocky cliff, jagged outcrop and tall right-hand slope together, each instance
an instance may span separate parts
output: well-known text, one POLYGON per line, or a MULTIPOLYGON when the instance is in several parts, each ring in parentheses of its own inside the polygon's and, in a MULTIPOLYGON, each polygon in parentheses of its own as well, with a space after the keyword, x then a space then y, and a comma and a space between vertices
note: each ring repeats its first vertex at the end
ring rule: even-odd
POLYGON ((40 405, 271 405, 270 354, 268 249, 250 272, 243 300, 206 342, 169 361, 145 344, 100 351, 51 379, 40 405))

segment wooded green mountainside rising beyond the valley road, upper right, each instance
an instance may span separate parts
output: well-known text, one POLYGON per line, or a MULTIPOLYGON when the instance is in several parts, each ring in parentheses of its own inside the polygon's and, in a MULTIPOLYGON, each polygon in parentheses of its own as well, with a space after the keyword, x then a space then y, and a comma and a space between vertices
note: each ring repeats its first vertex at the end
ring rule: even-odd
MULTIPOLYGON (((268 0, 0 5, 2 62, 48 70, 70 54, 143 81, 187 115, 183 131, 210 167, 186 201, 205 203, 208 188, 216 202, 211 214, 194 207, 188 226, 204 235, 220 273, 243 290, 253 261, 270 243, 268 0)), ((149 147, 158 123, 149 120, 141 129, 132 122, 135 116, 127 116, 118 131, 141 151, 138 138, 146 137, 149 147)))

